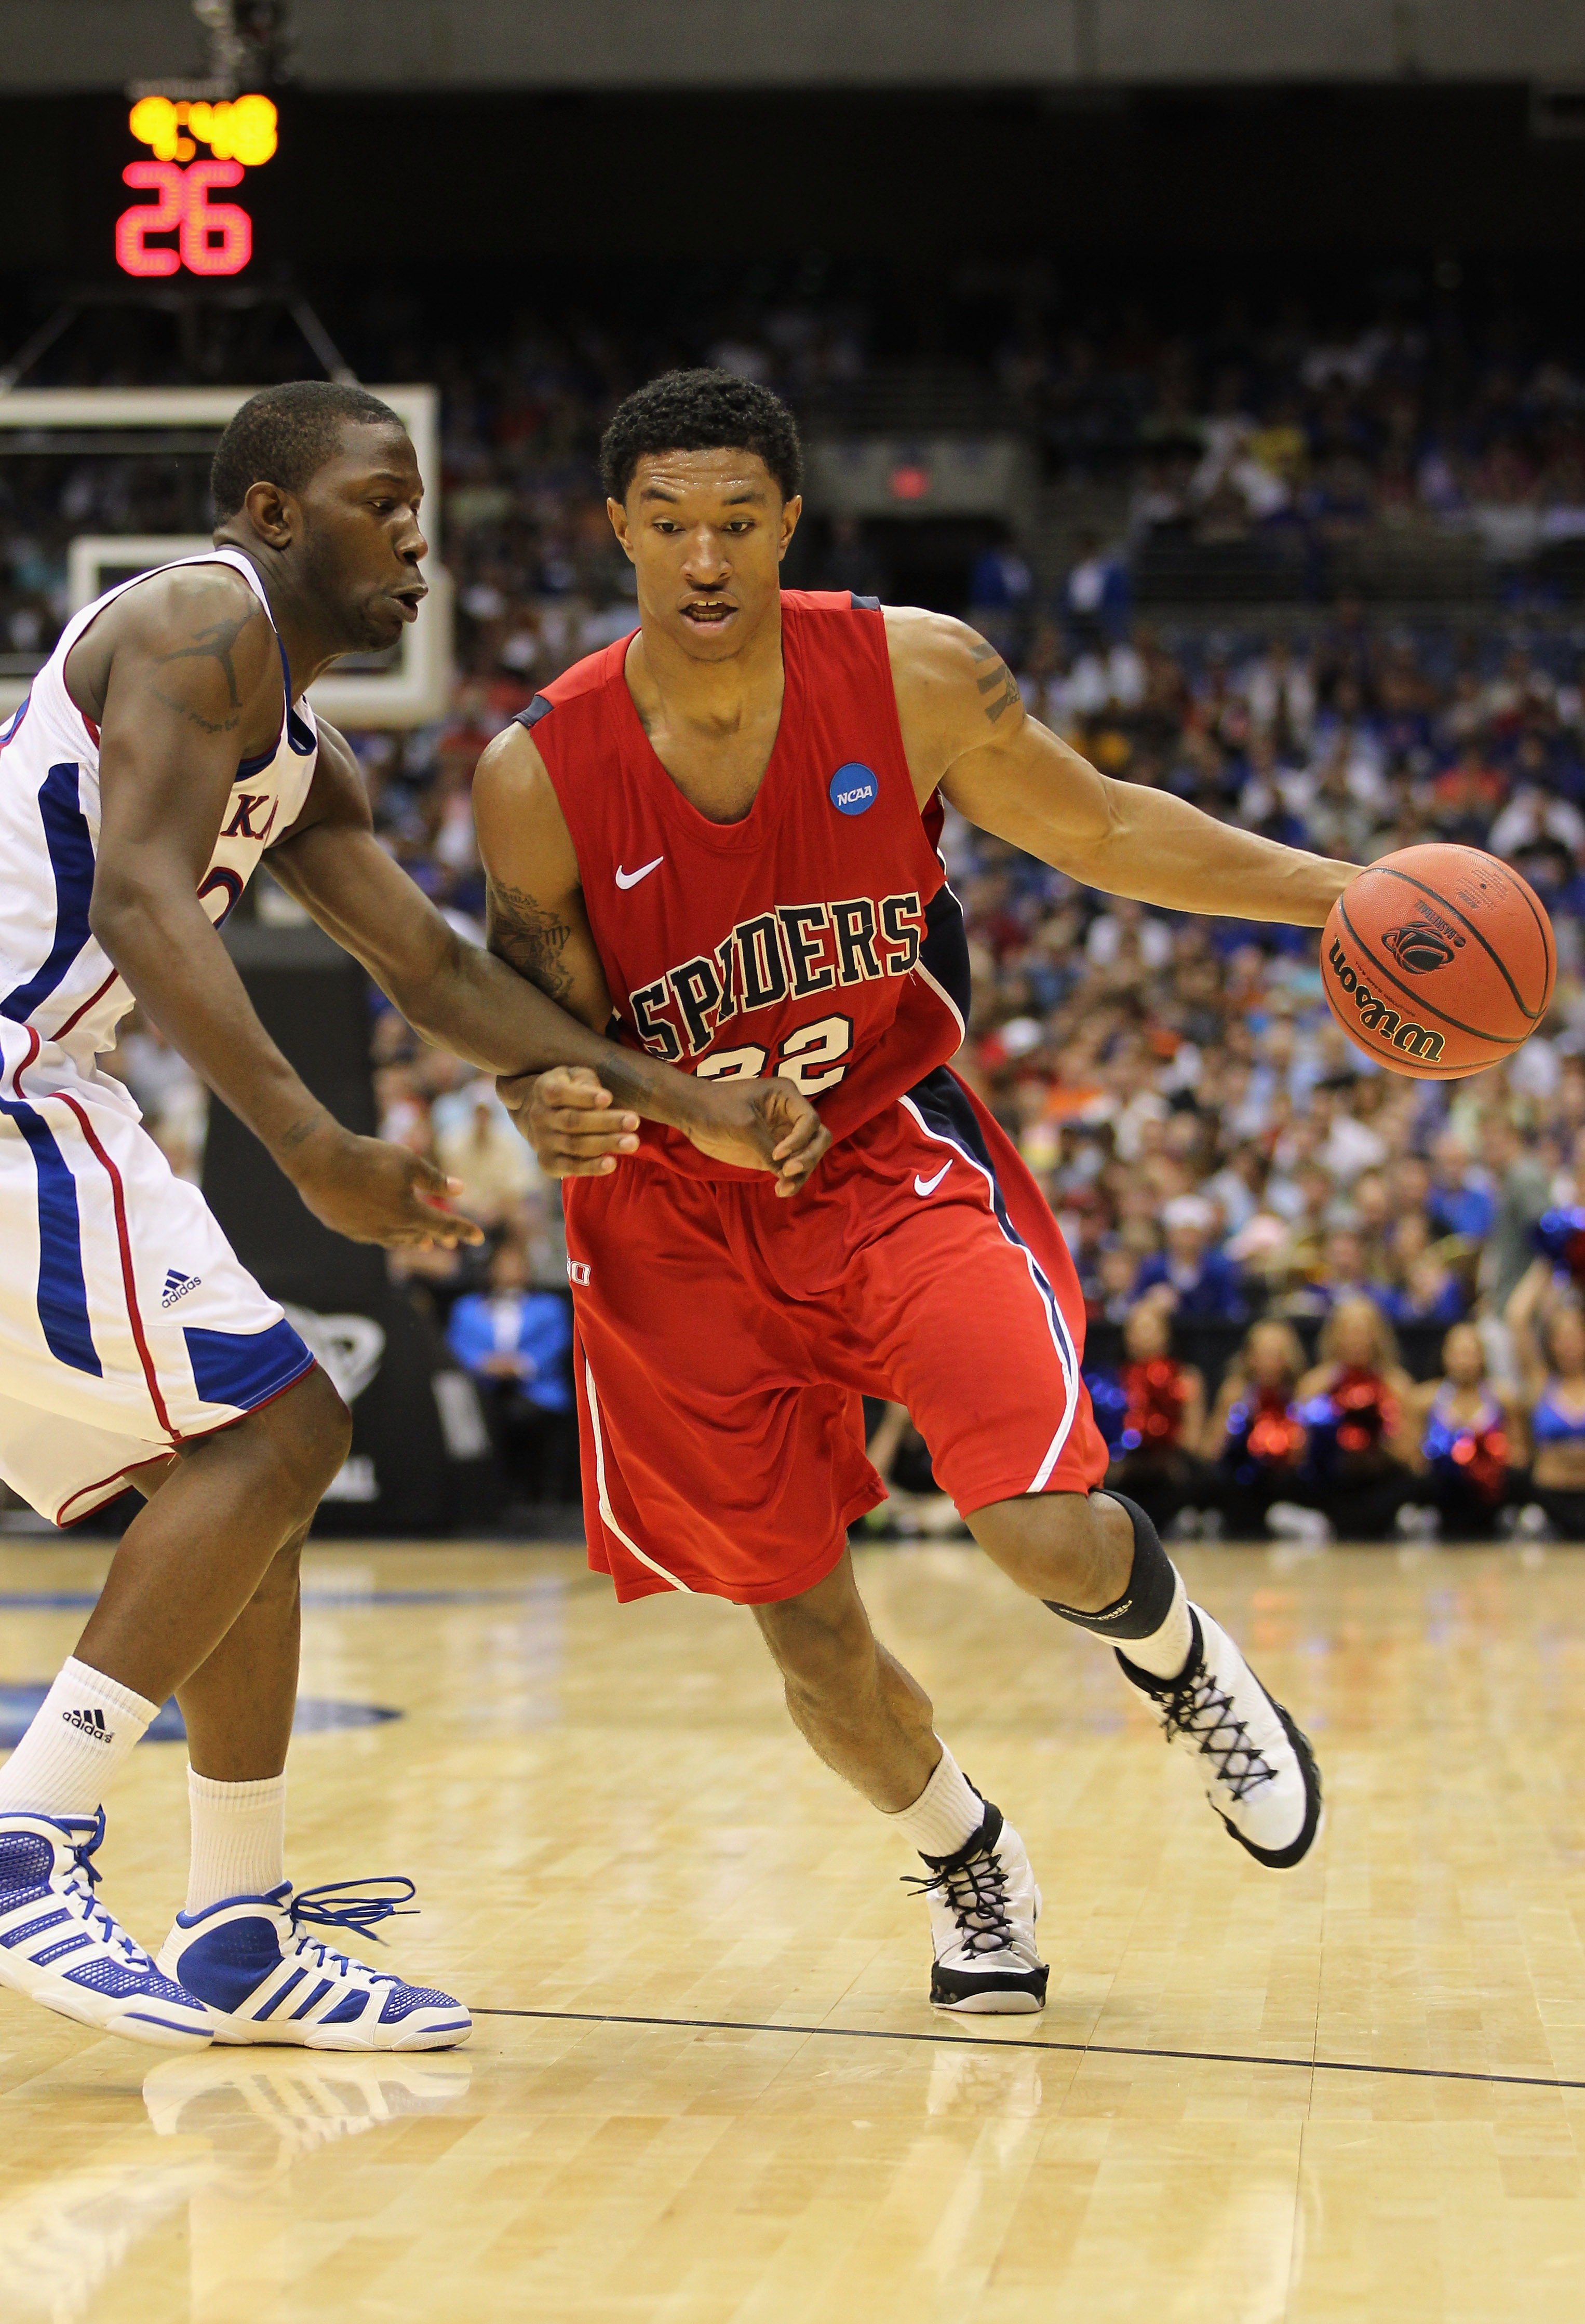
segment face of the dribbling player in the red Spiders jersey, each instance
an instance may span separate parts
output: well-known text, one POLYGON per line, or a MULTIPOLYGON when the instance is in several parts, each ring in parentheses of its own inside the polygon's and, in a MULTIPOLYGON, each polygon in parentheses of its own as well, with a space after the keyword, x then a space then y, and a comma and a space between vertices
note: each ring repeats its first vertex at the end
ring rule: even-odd
POLYGON ((644 627, 700 662, 741 653, 776 604, 802 507, 781 497, 758 453, 646 453, 627 500, 607 500, 639 579, 644 627))

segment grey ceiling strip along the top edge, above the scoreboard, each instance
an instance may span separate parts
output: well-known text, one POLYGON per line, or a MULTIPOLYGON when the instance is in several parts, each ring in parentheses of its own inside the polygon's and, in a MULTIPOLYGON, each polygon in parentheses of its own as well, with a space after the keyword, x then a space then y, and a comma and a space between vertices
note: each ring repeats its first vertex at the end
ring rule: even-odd
MULTIPOLYGON (((0 0, 2 91, 200 74, 191 0, 0 0)), ((309 88, 1585 84, 1578 0, 297 0, 309 88)))

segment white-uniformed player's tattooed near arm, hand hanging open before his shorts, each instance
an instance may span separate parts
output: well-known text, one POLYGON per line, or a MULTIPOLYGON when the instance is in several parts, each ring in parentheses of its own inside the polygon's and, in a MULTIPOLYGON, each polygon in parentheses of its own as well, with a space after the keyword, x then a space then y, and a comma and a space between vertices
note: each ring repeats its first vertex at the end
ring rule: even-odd
POLYGON ((100 727, 88 925, 139 1006, 328 1227, 386 1246, 476 1241, 449 1211, 460 1188, 325 1113, 198 902, 237 760, 281 730, 281 658, 253 590, 214 565, 130 590, 67 658, 67 686, 100 727))

